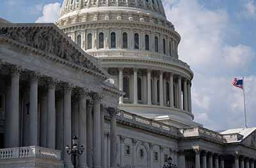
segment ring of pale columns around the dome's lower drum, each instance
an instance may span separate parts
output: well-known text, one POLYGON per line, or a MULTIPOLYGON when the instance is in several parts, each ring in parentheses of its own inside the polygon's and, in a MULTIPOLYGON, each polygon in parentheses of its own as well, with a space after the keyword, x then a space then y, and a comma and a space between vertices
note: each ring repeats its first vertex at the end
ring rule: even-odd
MULTIPOLYGON (((133 104, 138 104, 138 71, 140 70, 145 71, 145 69, 133 69, 133 83, 131 83, 133 85, 133 104)), ((118 71, 119 89, 123 91, 124 67, 118 68, 118 71)), ((170 108, 179 108, 191 112, 191 82, 188 78, 152 69, 147 69, 147 74, 143 74, 143 76, 145 76, 143 79, 146 80, 141 87, 147 88, 145 94, 147 95, 146 102, 148 105, 170 106, 170 108), (159 88, 157 88, 157 80, 159 80, 159 88), (168 83, 169 92, 166 90, 166 83, 168 83), (159 101, 157 101, 157 94, 159 95, 159 101), (169 101, 166 99, 166 94, 168 94, 169 101)), ((120 97, 119 103, 124 103, 124 96, 120 97)))

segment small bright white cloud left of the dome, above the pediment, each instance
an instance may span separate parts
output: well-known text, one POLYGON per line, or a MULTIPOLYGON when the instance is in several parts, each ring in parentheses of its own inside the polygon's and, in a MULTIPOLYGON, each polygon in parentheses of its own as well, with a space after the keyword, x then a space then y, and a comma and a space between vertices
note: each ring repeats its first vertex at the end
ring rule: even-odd
POLYGON ((56 22, 60 16, 61 4, 60 3, 50 3, 46 4, 42 10, 42 17, 36 20, 36 23, 49 23, 56 22))

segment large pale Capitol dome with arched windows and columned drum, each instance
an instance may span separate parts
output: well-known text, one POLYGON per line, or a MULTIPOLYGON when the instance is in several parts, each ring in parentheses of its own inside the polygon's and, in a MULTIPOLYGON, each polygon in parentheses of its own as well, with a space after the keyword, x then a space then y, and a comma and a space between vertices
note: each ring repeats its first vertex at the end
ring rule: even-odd
POLYGON ((56 24, 125 92, 118 108, 175 127, 198 125, 193 72, 179 60, 180 35, 161 0, 65 0, 56 24))

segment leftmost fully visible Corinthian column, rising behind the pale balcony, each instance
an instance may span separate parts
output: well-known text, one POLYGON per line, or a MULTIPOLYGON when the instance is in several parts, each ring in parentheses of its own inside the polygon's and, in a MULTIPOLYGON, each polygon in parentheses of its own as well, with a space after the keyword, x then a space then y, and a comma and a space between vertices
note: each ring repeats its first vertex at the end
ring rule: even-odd
POLYGON ((20 146, 19 80, 21 68, 11 67, 10 147, 20 146))

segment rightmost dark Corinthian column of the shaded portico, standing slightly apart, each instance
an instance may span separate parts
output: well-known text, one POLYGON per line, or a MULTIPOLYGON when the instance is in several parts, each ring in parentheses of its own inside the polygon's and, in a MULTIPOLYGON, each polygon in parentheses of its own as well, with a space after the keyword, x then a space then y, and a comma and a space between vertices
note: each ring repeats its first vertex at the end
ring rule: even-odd
POLYGON ((110 167, 116 167, 116 157, 117 157, 117 141, 116 141, 116 109, 108 108, 107 109, 111 116, 111 125, 110 125, 110 167))

